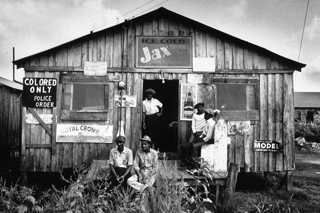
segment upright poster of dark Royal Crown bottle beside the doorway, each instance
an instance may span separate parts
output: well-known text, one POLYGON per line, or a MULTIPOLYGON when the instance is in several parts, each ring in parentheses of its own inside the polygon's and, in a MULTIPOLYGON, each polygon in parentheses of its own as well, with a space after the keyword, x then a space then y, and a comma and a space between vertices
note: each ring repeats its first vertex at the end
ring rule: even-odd
POLYGON ((181 84, 180 90, 180 120, 192 120, 192 115, 196 113, 194 106, 198 101, 197 84, 181 84))

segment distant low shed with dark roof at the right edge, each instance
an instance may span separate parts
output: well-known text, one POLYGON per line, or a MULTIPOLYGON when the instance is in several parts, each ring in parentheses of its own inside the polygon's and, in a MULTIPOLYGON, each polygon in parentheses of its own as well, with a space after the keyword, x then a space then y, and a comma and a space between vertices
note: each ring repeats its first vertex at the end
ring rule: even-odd
POLYGON ((320 92, 294 92, 294 118, 320 122, 320 92))

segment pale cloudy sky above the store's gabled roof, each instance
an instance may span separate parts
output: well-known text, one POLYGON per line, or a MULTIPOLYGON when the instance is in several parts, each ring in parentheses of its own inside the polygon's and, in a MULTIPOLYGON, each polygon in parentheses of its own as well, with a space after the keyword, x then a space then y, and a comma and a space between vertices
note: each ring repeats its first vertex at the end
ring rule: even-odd
MULTIPOLYGON (((0 76, 12 80, 12 47, 19 59, 89 34, 97 27, 104 25, 96 29, 99 31, 115 25, 116 18, 122 22, 161 6, 297 61, 308 0, 0 0, 0 3, 0 76)), ((310 0, 299 58, 307 67, 294 73, 294 91, 320 92, 319 50, 320 1, 310 0)), ((16 70, 16 80, 21 81, 22 77, 23 68, 16 70)))

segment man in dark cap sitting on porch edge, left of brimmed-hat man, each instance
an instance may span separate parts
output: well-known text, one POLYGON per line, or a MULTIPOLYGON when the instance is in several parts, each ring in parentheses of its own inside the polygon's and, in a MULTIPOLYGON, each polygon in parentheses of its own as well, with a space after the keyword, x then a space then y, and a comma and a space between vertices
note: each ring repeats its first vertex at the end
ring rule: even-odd
POLYGON ((117 148, 110 151, 110 174, 108 181, 110 182, 109 189, 121 184, 124 189, 127 188, 127 180, 131 176, 132 167, 132 151, 124 147, 126 138, 122 135, 116 137, 117 148))

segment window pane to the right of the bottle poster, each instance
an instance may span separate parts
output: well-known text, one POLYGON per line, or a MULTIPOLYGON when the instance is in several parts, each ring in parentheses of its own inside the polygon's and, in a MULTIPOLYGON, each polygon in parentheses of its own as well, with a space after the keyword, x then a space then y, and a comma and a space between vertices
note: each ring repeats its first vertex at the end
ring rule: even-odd
POLYGON ((217 84, 217 109, 222 111, 255 110, 255 85, 217 84))

